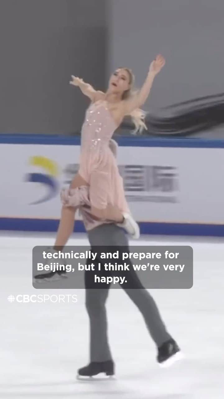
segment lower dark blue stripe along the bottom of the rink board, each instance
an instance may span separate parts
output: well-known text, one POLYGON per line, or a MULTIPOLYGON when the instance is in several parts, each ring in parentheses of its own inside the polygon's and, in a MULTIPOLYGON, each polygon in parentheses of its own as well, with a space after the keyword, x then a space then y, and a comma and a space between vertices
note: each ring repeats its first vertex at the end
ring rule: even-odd
MULTIPOLYGON (((56 232, 58 225, 59 220, 57 219, 0 217, 0 230, 56 232)), ((224 225, 159 222, 140 222, 139 225, 141 234, 224 237, 224 225)), ((75 222, 74 231, 77 233, 85 232, 82 221, 77 220, 75 222)))

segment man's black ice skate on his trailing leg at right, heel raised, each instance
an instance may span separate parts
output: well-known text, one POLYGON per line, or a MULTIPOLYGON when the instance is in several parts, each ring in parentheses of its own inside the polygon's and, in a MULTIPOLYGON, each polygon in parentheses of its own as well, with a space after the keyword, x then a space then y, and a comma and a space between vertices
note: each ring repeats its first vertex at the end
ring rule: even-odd
POLYGON ((158 348, 157 361, 161 367, 169 367, 175 361, 183 358, 177 343, 170 339, 158 348))

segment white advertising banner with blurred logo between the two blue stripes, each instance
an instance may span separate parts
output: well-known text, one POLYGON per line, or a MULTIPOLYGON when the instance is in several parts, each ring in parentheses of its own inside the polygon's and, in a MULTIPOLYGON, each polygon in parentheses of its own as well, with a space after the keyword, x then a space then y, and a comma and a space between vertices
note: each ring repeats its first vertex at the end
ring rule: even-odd
MULTIPOLYGON (((1 217, 59 219, 59 192, 79 168, 77 145, 1 144, 1 217), (16 162, 14 162, 16 159, 16 162)), ((224 149, 120 146, 137 221, 224 223, 224 149)))

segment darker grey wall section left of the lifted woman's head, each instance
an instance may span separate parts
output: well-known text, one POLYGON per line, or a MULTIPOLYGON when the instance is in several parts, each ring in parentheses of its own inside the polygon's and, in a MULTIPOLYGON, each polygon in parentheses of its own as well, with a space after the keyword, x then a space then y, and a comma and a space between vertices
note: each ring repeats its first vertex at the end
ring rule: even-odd
POLYGON ((104 0, 1 0, 0 132, 71 133, 86 99, 78 75, 105 83, 104 0))

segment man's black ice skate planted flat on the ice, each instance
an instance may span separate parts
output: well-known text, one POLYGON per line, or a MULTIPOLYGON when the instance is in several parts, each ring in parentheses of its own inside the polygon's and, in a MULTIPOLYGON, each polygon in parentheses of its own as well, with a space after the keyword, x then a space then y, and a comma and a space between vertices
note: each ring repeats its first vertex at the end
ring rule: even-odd
POLYGON ((112 377, 114 375, 114 362, 112 360, 92 361, 87 366, 78 370, 77 378, 82 379, 80 377, 93 377, 100 373, 105 373, 107 376, 112 377))

